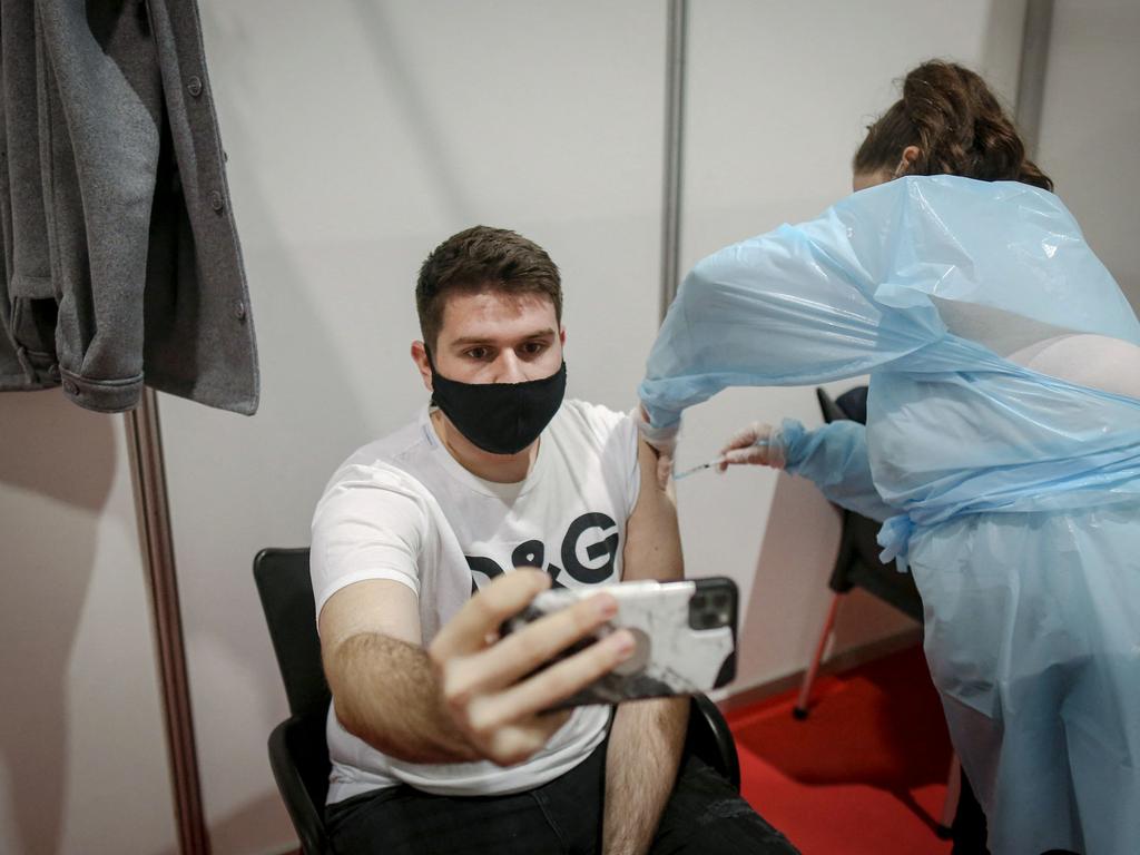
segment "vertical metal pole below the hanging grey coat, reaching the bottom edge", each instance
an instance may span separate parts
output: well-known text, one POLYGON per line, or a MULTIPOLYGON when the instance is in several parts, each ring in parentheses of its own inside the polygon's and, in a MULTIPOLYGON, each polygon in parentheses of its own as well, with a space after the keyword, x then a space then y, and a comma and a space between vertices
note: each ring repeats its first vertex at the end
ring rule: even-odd
POLYGON ((186 673, 182 616, 178 604, 174 545, 170 528, 166 470, 162 456, 158 400, 144 389, 139 406, 125 414, 131 481, 139 539, 150 593, 162 708, 166 726, 171 789, 178 845, 182 855, 209 855, 210 837, 202 809, 194 719, 186 673))

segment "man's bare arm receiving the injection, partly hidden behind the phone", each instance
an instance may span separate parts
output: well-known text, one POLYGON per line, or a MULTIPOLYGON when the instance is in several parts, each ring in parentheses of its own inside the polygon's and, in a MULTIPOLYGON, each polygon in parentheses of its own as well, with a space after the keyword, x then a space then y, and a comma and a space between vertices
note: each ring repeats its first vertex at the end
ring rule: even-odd
MULTIPOLYGON (((657 478, 657 455, 640 441, 641 492, 626 523, 624 580, 683 576, 677 510, 657 478)), ((689 725, 689 697, 618 707, 605 758, 605 855, 649 850, 677 777, 689 725)))

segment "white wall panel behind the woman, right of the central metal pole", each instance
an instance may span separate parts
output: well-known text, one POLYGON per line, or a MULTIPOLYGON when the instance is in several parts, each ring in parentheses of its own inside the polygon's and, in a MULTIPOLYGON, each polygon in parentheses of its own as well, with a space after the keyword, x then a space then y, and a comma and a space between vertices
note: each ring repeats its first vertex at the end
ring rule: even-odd
MULTIPOLYGON (((978 68, 1012 103, 1023 14, 1024 3, 986 0, 693 2, 682 268, 850 193, 850 158, 866 125, 921 60, 978 68)), ((820 424, 814 392, 730 390, 686 415, 681 465, 712 457, 749 422, 785 416, 820 424)), ((732 576, 746 603, 733 691, 805 667, 830 602, 837 513, 809 484, 769 470, 699 475, 677 492, 690 570, 732 576)), ((912 621, 855 592, 836 650, 906 630, 912 621)))

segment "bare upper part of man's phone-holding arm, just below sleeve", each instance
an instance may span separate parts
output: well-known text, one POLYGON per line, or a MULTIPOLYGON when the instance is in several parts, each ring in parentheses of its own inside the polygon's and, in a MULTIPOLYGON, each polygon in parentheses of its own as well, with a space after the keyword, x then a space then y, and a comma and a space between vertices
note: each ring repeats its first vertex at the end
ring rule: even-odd
POLYGON ((422 646, 420 603, 412 588, 391 579, 364 579, 337 591, 317 621, 325 662, 353 635, 380 634, 422 646))

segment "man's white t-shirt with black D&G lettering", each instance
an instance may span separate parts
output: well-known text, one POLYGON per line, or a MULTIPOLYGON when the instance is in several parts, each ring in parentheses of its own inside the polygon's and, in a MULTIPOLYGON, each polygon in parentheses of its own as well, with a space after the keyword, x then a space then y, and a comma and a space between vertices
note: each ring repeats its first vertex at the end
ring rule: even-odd
MULTIPOLYGON (((425 407, 414 423, 349 457, 317 504, 317 613, 352 583, 398 581, 418 597, 427 645, 470 598, 473 584, 486 585, 515 565, 539 567, 567 587, 617 581, 640 484, 636 425, 605 407, 564 401, 543 431, 530 474, 510 484, 461 466, 425 407)), ((329 709, 328 803, 400 782, 448 796, 539 787, 586 759, 604 738, 609 715, 606 707, 579 707, 543 750, 503 768, 388 757, 348 733, 329 709)))

